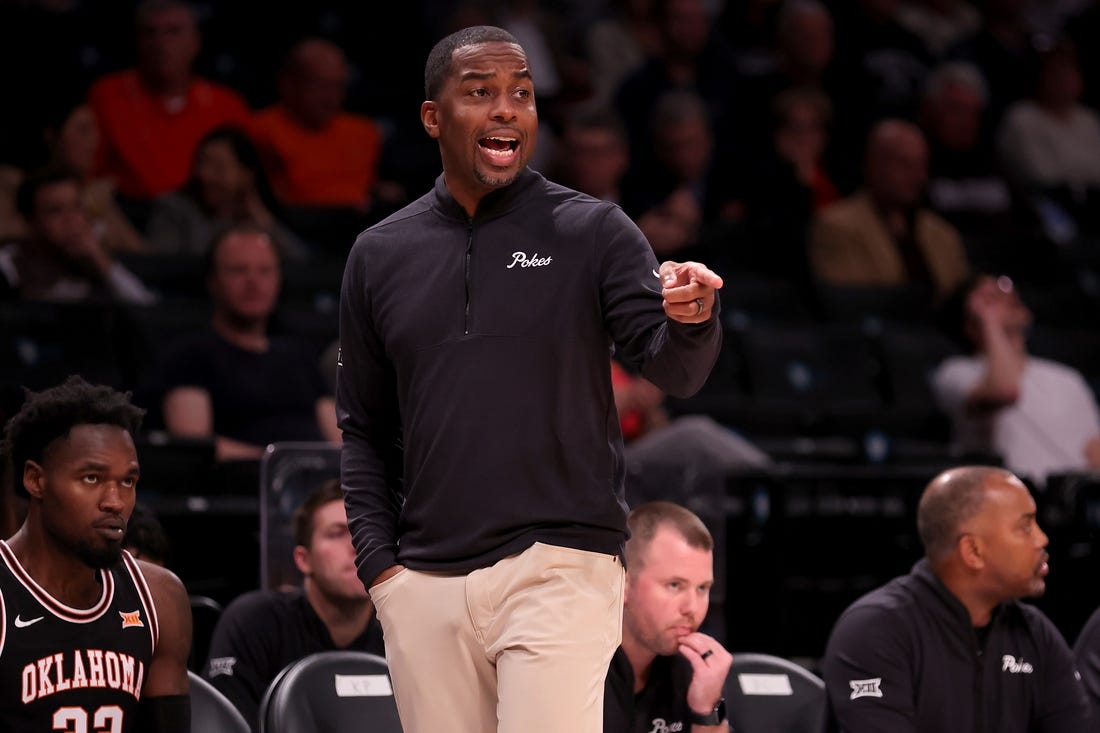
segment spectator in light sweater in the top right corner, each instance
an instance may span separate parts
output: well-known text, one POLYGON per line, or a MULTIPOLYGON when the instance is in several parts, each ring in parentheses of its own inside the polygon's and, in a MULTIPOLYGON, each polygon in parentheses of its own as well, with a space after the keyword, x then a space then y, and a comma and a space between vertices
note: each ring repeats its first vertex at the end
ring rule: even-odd
POLYGON ((1021 186, 1048 206, 1063 209, 1077 231, 1094 233, 1100 232, 1096 211, 1100 113, 1081 103, 1084 89, 1071 42, 1043 52, 1034 94, 1005 112, 997 145, 1009 174, 1021 186))

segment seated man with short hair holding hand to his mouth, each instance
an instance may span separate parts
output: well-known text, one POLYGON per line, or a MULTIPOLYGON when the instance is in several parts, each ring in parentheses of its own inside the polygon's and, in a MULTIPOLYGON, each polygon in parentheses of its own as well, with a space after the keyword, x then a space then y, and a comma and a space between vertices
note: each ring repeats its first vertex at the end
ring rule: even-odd
POLYGON ((733 656, 700 633, 714 584, 714 540, 670 502, 627 518, 623 643, 604 687, 605 733, 728 731, 722 692, 733 656))

